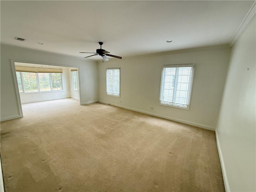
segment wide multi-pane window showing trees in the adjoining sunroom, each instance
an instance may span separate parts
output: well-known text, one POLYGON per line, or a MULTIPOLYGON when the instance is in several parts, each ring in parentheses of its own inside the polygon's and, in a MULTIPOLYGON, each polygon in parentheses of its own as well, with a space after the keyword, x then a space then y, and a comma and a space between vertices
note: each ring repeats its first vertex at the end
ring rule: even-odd
POLYGON ((61 73, 17 72, 20 93, 62 90, 61 73))

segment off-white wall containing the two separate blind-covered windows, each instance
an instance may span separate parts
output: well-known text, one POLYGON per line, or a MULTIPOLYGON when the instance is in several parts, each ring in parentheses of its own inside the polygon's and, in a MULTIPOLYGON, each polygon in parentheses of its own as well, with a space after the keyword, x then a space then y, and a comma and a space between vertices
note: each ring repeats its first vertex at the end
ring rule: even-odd
POLYGON ((98 62, 99 100, 132 110, 215 130, 230 46, 98 62), (196 63, 190 110, 159 105, 162 66, 196 63), (106 68, 120 67, 120 98, 106 94, 106 68), (150 110, 150 106, 154 110, 150 110))

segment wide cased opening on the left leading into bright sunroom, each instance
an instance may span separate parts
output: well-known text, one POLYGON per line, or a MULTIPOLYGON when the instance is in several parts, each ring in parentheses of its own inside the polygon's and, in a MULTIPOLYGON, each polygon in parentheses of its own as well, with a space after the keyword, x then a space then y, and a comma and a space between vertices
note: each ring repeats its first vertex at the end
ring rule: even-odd
POLYGON ((13 62, 20 117, 22 105, 73 98, 80 104, 79 67, 13 62))

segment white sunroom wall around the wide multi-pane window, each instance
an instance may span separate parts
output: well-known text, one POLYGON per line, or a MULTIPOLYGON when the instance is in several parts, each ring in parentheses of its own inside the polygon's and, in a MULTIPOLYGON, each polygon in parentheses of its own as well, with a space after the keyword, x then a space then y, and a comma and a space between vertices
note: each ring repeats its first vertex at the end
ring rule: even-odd
POLYGON ((46 68, 59 68, 62 69, 62 88, 63 90, 54 92, 36 92, 36 93, 20 93, 20 101, 24 103, 40 102, 54 99, 70 98, 70 77, 69 68, 63 66, 47 66, 38 64, 17 64, 19 66, 31 66, 31 67, 46 67, 46 68))

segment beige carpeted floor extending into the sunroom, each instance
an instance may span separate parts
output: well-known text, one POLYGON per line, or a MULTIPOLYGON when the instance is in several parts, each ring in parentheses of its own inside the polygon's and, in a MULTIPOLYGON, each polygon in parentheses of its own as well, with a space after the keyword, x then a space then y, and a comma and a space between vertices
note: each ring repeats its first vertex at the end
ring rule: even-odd
POLYGON ((224 192, 213 131, 74 99, 1 123, 6 192, 224 192))

